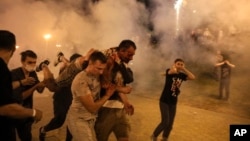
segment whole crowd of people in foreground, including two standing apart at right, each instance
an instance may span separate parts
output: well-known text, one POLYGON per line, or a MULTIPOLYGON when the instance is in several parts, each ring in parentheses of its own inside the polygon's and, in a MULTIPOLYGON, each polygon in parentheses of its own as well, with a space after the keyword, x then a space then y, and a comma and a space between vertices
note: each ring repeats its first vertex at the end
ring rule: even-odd
MULTIPOLYGON (((39 140, 45 141, 46 133, 67 125, 66 140, 108 141, 114 133, 118 141, 129 141, 130 123, 127 116, 134 114, 134 106, 127 94, 134 81, 128 63, 133 60, 136 44, 122 40, 117 47, 105 51, 89 49, 85 55, 72 54, 68 59, 60 52, 57 66, 59 75, 54 78, 48 60, 37 65, 37 54, 32 50, 21 52, 21 66, 9 70, 8 62, 16 49, 16 37, 7 30, 0 30, 0 138, 6 141, 32 140, 32 124, 42 119, 43 112, 33 107, 35 91, 53 92, 54 115, 39 128, 39 140), (43 72, 40 81, 37 72, 43 72), (17 135, 17 136, 16 136, 17 135)), ((235 67, 227 58, 218 57, 220 67, 220 97, 226 89, 229 98, 230 69, 235 67)), ((167 141, 176 115, 176 105, 183 81, 194 80, 184 60, 177 58, 166 69, 165 86, 159 100, 161 122, 153 130, 151 140, 167 141)))

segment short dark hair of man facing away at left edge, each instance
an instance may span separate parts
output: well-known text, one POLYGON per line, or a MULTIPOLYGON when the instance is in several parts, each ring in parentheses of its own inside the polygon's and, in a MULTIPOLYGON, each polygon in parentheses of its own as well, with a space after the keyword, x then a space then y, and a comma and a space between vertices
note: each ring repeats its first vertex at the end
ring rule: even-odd
POLYGON ((0 30, 0 49, 15 51, 16 37, 8 30, 0 30))

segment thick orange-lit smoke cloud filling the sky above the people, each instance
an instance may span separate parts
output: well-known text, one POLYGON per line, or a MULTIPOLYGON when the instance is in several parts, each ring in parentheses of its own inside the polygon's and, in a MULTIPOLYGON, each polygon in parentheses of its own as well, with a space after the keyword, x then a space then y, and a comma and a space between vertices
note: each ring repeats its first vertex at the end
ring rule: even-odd
POLYGON ((174 4, 175 0, 1 0, 0 27, 14 32, 19 46, 10 67, 20 65, 18 54, 26 49, 34 50, 40 61, 53 60, 58 51, 84 54, 131 39, 138 48, 130 64, 138 89, 162 87, 159 74, 179 57, 198 76, 211 73, 217 50, 226 51, 236 65, 239 82, 234 87, 248 82, 248 1, 184 0, 178 21, 174 4), (204 37, 206 29, 209 38, 204 37), (48 33, 51 38, 46 40, 48 33))

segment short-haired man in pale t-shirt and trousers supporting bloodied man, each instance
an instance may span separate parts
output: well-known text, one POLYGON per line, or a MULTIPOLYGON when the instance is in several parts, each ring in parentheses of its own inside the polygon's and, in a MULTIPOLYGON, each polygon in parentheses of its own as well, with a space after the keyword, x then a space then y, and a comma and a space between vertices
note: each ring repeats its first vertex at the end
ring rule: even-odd
POLYGON ((67 115, 67 123, 76 141, 97 141, 94 130, 97 112, 115 90, 114 85, 107 86, 105 95, 100 98, 100 75, 106 63, 107 58, 102 52, 93 52, 87 68, 78 73, 72 82, 73 101, 67 115))

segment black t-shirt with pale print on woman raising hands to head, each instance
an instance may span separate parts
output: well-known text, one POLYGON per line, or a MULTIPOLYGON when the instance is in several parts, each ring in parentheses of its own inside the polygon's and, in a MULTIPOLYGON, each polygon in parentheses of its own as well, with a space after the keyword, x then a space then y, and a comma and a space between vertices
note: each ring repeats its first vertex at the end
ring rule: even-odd
POLYGON ((183 81, 187 80, 187 75, 180 72, 177 74, 168 74, 166 70, 165 86, 160 97, 160 101, 175 105, 180 94, 180 87, 183 81))

